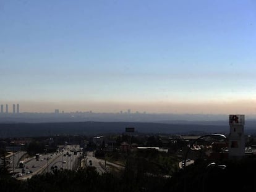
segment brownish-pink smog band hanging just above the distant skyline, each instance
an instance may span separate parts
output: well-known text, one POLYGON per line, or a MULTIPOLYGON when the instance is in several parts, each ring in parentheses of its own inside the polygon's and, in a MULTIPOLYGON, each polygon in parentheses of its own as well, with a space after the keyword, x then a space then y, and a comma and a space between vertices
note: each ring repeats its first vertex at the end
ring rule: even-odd
MULTIPOLYGON (((11 106, 14 102, 8 102, 7 105, 11 106)), ((15 104, 15 112, 20 113, 20 103, 15 104)), ((59 113, 64 112, 96 112, 96 113, 144 113, 149 114, 238 114, 239 112, 243 114, 256 115, 255 103, 254 102, 238 102, 234 105, 234 102, 226 103, 225 109, 221 109, 223 104, 217 102, 208 103, 207 105, 203 103, 108 103, 108 102, 22 102, 21 112, 46 112, 54 113, 59 110, 59 113), (160 110, 159 110, 160 108, 160 110), (251 110, 249 110, 251 109, 251 110), (216 112, 218 111, 218 112, 216 112)), ((6 104, 2 104, 3 113, 6 114, 6 104)), ((9 111, 9 114, 13 113, 9 111)))

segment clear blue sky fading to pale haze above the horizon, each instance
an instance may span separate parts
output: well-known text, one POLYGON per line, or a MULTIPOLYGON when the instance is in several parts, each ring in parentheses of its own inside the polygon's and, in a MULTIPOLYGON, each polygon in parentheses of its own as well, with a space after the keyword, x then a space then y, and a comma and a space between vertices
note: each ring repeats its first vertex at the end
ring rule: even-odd
POLYGON ((256 114, 255 1, 2 0, 0 26, 20 111, 256 114))

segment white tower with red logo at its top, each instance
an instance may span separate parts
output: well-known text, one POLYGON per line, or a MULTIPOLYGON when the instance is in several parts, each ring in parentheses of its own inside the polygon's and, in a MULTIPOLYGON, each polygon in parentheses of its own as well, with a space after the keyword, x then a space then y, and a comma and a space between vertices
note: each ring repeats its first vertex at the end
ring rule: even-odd
POLYGON ((229 158, 245 155, 244 115, 229 115, 229 158))

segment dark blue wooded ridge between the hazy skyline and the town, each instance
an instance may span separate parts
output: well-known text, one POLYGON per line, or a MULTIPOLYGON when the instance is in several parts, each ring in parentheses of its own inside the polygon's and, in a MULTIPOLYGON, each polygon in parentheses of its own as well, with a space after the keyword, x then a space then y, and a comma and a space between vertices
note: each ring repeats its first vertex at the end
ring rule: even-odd
POLYGON ((126 127, 135 127, 139 133, 206 133, 228 132, 226 126, 142 123, 142 122, 66 122, 66 123, 0 123, 2 138, 51 135, 96 135, 123 133, 126 127))

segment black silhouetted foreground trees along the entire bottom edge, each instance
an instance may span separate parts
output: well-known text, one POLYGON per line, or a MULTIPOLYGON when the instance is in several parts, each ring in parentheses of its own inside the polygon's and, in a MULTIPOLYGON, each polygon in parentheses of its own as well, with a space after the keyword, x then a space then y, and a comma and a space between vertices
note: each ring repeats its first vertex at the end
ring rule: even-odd
POLYGON ((166 178, 148 174, 147 165, 142 161, 130 159, 126 169, 119 175, 104 173, 99 175, 93 167, 77 171, 64 170, 35 175, 21 182, 11 178, 1 170, 1 191, 256 191, 256 161, 226 161, 226 169, 215 166, 207 167, 209 162, 197 161, 186 170, 173 173, 166 178))

